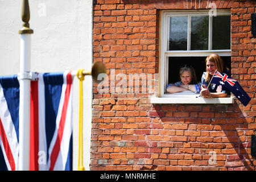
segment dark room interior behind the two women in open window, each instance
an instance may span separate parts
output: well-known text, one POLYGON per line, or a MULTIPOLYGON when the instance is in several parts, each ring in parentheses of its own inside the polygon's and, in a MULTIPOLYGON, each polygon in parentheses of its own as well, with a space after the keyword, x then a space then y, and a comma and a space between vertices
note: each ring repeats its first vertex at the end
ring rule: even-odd
MULTIPOLYGON (((231 57, 221 56, 221 58, 226 67, 231 69, 231 57)), ((205 72, 205 59, 206 57, 169 57, 168 84, 180 81, 179 69, 185 64, 191 65, 195 69, 197 82, 200 82, 203 72, 205 72)))

